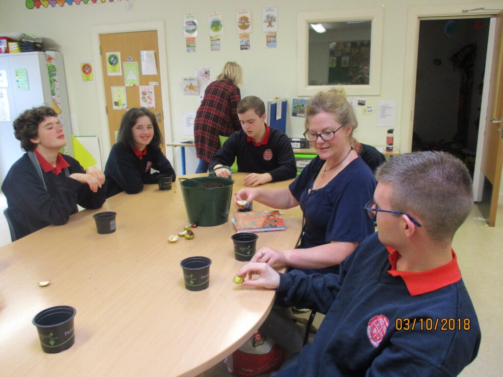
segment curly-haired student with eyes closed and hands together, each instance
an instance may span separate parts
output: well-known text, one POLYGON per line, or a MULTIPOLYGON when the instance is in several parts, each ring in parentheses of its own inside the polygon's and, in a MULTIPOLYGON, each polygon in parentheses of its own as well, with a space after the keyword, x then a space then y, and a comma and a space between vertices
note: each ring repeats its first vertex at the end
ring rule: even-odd
POLYGON ((89 209, 103 205, 103 172, 95 167, 84 170, 77 160, 59 153, 66 139, 54 109, 26 110, 13 126, 26 153, 12 165, 2 191, 17 238, 49 224, 66 224, 78 211, 77 204, 89 209))

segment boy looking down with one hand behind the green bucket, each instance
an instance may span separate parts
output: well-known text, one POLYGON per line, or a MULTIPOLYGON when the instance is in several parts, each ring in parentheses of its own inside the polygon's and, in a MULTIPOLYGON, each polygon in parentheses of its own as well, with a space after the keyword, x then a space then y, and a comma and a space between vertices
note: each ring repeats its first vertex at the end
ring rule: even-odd
MULTIPOLYGON (((237 105, 237 116, 242 129, 229 136, 209 169, 230 166, 237 158, 237 171, 250 173, 244 177, 245 186, 295 178, 297 168, 290 140, 266 124, 264 101, 255 96, 243 98, 237 105)), ((218 169, 215 174, 228 177, 230 171, 218 169)))

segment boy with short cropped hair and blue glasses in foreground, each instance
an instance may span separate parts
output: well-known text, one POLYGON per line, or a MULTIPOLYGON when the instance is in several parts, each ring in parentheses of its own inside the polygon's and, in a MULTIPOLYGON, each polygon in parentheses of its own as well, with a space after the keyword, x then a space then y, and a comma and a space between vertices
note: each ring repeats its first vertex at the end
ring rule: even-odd
MULTIPOLYGON (((396 156, 376 172, 379 232, 340 274, 276 272, 249 263, 247 287, 280 305, 326 314, 311 344, 277 376, 455 376, 477 356, 480 328, 451 248, 473 204, 467 168, 444 152, 396 156)), ((347 214, 351 216, 351 214, 347 214)))

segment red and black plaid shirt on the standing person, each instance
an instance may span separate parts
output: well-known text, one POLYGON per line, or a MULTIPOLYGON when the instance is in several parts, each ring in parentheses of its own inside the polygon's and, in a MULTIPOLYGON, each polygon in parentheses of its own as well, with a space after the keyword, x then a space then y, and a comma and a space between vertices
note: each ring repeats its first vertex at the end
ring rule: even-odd
POLYGON ((239 101, 241 92, 231 80, 213 81, 206 87, 194 122, 197 158, 210 162, 220 149, 218 136, 241 129, 236 112, 239 101))

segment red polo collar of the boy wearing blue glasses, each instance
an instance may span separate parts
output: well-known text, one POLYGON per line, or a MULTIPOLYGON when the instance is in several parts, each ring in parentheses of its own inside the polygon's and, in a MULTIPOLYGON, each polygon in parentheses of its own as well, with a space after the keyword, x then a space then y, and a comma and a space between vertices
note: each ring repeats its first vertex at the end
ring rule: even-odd
POLYGON ((410 296, 433 292, 461 280, 458 259, 452 249, 452 260, 449 263, 428 271, 407 272, 396 270, 396 261, 400 257, 398 251, 389 246, 386 246, 386 248, 389 251, 388 258, 391 263, 388 273, 393 276, 400 276, 403 279, 410 296))

